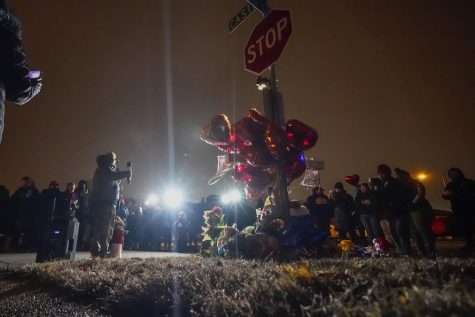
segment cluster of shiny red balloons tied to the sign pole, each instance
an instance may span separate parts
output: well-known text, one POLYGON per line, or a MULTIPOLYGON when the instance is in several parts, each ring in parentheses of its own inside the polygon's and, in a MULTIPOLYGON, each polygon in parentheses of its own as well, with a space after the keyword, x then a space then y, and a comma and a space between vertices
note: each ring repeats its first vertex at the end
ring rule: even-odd
POLYGON ((305 172, 303 151, 317 143, 318 133, 295 119, 284 130, 253 108, 234 124, 224 114, 214 116, 201 130, 201 139, 234 154, 234 179, 245 185, 248 200, 255 201, 274 182, 275 166, 283 167, 287 184, 305 172))

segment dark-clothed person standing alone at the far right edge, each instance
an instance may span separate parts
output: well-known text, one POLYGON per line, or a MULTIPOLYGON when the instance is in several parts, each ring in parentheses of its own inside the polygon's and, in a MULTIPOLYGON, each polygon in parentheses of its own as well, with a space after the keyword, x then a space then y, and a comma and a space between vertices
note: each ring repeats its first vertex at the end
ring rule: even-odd
POLYGON ((452 212, 467 242, 465 249, 475 247, 473 233, 475 226, 475 181, 466 178, 463 171, 453 167, 448 171, 450 183, 442 197, 450 201, 452 212))

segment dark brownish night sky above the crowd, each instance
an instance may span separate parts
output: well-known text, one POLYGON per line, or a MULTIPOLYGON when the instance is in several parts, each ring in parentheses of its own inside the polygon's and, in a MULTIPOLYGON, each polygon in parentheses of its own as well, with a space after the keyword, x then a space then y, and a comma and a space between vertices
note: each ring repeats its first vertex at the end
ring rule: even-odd
MULTIPOLYGON (((9 104, 0 183, 23 175, 40 188, 91 179, 108 150, 134 163, 126 193, 143 198, 168 182, 167 80, 171 84, 177 182, 197 199, 209 187, 217 150, 199 140, 217 113, 234 119, 262 108, 243 50, 261 19, 234 33, 243 0, 11 0, 24 46, 44 72, 41 95, 9 104), (165 17, 169 16, 169 45, 165 17), (167 47, 171 63, 167 74, 167 47)), ((363 179, 386 162, 413 173, 462 168, 475 178, 475 4, 473 1, 269 0, 291 10, 294 34, 277 64, 286 118, 320 133, 308 156, 325 161, 323 185, 363 179)), ((307 192, 293 184, 294 198, 307 192)), ((427 182, 441 201, 440 178, 427 182)))

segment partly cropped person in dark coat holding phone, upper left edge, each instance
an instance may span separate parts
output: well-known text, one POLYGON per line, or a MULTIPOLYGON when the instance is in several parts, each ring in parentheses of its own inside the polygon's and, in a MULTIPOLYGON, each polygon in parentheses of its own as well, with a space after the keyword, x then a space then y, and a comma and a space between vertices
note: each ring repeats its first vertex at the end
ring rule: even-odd
POLYGON ((5 0, 0 0, 0 143, 5 101, 24 105, 41 90, 41 77, 32 76, 21 43, 21 24, 5 0), (31 78, 37 77, 37 78, 31 78))

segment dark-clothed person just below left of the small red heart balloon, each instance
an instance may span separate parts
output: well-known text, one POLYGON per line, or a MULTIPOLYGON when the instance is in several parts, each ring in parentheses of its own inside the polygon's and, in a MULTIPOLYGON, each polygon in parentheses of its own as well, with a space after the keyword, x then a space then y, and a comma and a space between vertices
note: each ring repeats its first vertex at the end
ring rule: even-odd
POLYGON ((348 194, 341 182, 335 184, 335 192, 331 196, 331 202, 335 211, 335 229, 338 230, 340 240, 350 239, 355 241, 355 233, 352 222, 354 212, 353 197, 348 194))

